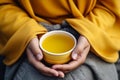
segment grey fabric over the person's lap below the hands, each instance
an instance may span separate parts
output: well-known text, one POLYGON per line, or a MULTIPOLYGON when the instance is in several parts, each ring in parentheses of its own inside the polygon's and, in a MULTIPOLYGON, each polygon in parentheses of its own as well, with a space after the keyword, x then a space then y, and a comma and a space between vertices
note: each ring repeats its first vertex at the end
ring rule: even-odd
POLYGON ((27 59, 6 69, 5 80, 118 80, 115 65, 104 62, 92 53, 83 65, 66 74, 65 78, 45 76, 30 65, 27 59))

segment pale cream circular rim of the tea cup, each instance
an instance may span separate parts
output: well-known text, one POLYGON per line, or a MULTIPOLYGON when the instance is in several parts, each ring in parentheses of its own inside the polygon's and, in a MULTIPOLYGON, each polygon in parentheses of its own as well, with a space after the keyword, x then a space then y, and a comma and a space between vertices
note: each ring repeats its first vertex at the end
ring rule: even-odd
POLYGON ((76 41, 76 38, 73 36, 73 34, 67 32, 67 31, 63 31, 63 30, 53 30, 53 31, 49 31, 49 32, 45 33, 44 35, 42 35, 41 38, 40 38, 39 44, 40 44, 40 48, 41 48, 45 53, 50 54, 50 55, 55 55, 55 56, 58 56, 58 55, 59 55, 59 56, 60 56, 60 55, 64 55, 64 54, 70 53, 70 52, 76 47, 76 42, 77 42, 77 41, 76 41), (66 51, 66 52, 59 53, 59 54, 56 54, 56 53, 54 53, 54 52, 49 52, 49 51, 47 51, 46 49, 44 49, 44 48, 42 47, 42 41, 43 41, 43 39, 45 39, 44 36, 49 35, 49 34, 51 34, 51 33, 56 33, 56 32, 57 32, 57 33, 65 33, 65 34, 71 36, 71 37, 73 38, 73 40, 74 40, 74 46, 73 46, 70 50, 68 50, 68 51, 66 51))

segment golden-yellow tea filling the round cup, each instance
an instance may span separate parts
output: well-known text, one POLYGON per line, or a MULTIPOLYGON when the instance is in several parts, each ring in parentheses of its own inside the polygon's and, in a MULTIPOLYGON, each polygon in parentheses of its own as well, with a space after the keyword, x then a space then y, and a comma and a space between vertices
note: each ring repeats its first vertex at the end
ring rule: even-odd
POLYGON ((74 46, 74 40, 68 35, 54 34, 48 36, 42 42, 42 46, 45 50, 52 53, 63 53, 74 46))

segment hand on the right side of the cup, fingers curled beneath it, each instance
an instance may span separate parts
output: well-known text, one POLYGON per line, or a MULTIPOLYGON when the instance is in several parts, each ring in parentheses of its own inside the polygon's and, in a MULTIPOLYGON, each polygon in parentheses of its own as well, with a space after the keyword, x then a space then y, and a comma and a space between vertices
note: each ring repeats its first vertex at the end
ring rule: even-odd
POLYGON ((52 68, 55 70, 62 71, 64 73, 70 72, 85 62, 89 50, 89 42, 84 36, 80 36, 78 39, 78 44, 71 55, 73 60, 68 64, 53 65, 52 68))

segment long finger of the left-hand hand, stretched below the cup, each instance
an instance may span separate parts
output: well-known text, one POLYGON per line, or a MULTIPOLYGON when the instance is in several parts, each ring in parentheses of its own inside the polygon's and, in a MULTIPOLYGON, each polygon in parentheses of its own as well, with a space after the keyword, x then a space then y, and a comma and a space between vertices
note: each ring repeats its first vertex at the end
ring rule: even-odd
POLYGON ((27 49, 27 56, 28 56, 29 62, 43 74, 48 76, 56 76, 56 77, 58 76, 58 72, 56 70, 46 67, 43 63, 36 60, 29 49, 27 49))

